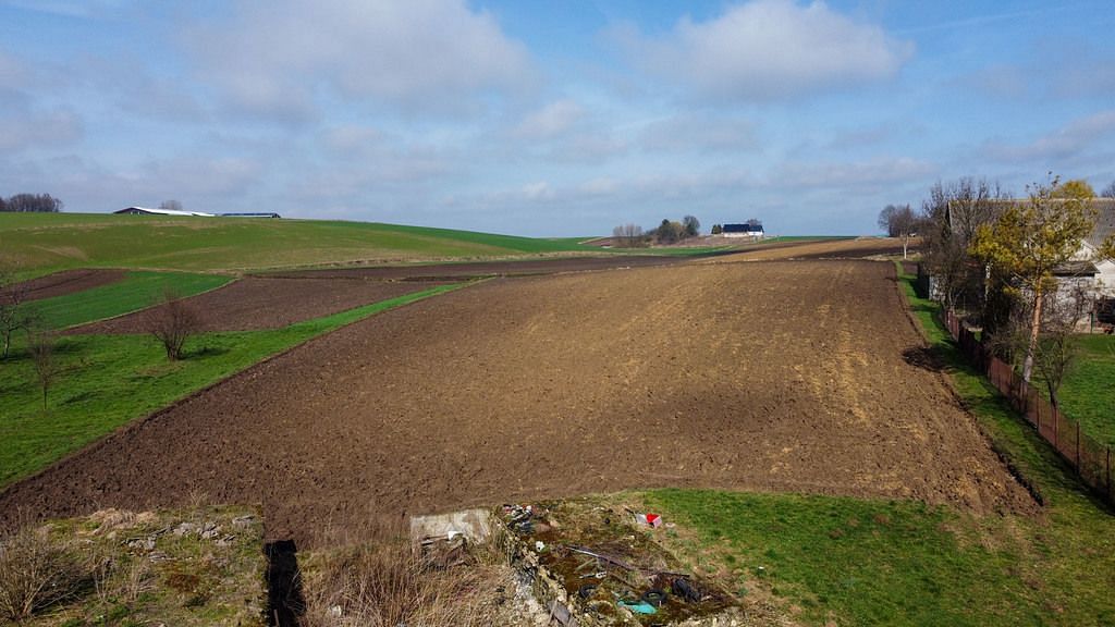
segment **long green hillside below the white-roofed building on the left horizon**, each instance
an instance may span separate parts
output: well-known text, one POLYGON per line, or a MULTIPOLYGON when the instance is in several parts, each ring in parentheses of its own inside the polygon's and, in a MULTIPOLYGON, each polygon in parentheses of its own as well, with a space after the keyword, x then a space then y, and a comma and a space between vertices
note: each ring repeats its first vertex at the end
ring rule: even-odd
POLYGON ((259 269, 601 252, 564 239, 365 222, 77 213, 0 213, 0 248, 33 273, 95 267, 259 269))

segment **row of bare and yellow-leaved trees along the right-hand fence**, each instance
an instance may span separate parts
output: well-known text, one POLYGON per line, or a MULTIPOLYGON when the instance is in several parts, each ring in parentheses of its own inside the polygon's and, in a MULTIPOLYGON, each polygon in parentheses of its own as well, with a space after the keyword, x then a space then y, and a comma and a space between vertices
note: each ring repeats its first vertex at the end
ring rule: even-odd
MULTIPOLYGON (((935 297, 982 327, 988 345, 1018 365, 1024 380, 1037 370, 1054 405, 1074 358, 1069 337, 1096 296, 1090 277, 1058 281, 1056 274, 1095 229, 1094 196, 1086 182, 1056 176, 1029 185, 1024 200, 986 180, 961 179, 934 185, 912 218, 935 297)), ((891 213, 902 223, 913 212, 891 213)), ((1115 237, 1098 255, 1115 259, 1115 237)))

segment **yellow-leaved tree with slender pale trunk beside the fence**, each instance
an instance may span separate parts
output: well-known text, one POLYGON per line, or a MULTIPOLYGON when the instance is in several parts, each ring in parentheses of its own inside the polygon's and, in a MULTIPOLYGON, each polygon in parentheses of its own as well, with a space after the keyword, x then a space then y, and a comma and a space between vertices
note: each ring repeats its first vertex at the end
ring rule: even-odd
POLYGON ((1027 200, 1009 205, 993 223, 979 228, 969 252, 991 267, 989 276, 1005 278, 991 289, 1004 290, 1028 306, 1029 341, 1022 364, 1022 378, 1028 384, 1041 332, 1043 302, 1057 289, 1054 270, 1080 250, 1080 241, 1095 228, 1096 210, 1083 194, 1066 193, 1056 176, 1027 191, 1027 200))

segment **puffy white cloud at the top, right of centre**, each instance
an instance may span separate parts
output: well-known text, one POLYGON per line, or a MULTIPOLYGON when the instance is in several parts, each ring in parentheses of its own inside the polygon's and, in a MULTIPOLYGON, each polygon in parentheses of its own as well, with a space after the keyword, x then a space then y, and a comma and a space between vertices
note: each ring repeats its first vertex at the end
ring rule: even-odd
POLYGON ((661 39, 621 33, 636 65, 716 100, 774 100, 893 77, 913 44, 822 1, 754 0, 661 39))

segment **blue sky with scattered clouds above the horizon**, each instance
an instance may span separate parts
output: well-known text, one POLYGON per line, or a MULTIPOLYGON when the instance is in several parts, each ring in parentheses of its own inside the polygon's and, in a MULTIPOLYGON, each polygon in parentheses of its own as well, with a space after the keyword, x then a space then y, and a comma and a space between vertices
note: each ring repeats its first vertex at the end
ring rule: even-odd
POLYGON ((0 0, 0 194, 526 235, 875 232, 1115 182, 1115 6, 0 0))

